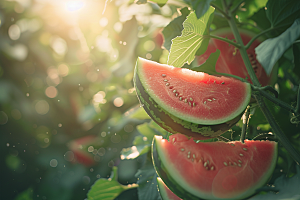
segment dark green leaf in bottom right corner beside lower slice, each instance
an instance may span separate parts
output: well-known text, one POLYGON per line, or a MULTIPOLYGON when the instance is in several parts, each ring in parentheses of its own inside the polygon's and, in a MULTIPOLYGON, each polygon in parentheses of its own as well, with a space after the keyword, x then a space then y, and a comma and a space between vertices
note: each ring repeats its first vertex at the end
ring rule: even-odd
POLYGON ((297 174, 291 178, 287 178, 285 175, 277 178, 274 182, 275 187, 268 187, 269 190, 277 190, 279 192, 268 192, 267 194, 256 195, 250 200, 280 200, 280 199, 289 199, 289 200, 299 200, 299 185, 300 185, 300 167, 297 165, 297 174))

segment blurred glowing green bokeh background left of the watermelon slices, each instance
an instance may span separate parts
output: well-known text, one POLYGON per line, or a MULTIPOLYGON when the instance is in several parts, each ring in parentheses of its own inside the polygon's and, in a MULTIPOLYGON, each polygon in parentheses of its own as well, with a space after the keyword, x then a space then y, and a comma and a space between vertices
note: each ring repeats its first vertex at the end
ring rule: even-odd
POLYGON ((138 56, 165 62, 160 29, 176 7, 0 2, 1 200, 84 199, 113 166, 120 183, 137 181, 145 157, 120 160, 144 122, 130 118, 133 68, 138 56))

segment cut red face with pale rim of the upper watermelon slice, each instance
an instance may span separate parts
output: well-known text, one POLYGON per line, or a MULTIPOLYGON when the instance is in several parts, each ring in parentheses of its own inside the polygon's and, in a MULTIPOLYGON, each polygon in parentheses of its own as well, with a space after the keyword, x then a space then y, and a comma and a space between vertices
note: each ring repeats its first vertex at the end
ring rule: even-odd
POLYGON ((139 58, 137 75, 153 100, 172 115, 196 124, 221 124, 240 115, 250 84, 139 58))

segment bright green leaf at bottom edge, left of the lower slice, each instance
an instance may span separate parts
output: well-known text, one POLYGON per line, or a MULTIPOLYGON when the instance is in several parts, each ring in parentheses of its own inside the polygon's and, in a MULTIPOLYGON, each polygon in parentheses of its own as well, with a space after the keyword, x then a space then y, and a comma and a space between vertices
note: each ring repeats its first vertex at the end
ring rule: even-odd
POLYGON ((121 194, 121 192, 138 187, 136 184, 121 185, 117 179, 117 167, 113 167, 109 179, 100 178, 92 185, 87 194, 88 200, 112 200, 121 194))

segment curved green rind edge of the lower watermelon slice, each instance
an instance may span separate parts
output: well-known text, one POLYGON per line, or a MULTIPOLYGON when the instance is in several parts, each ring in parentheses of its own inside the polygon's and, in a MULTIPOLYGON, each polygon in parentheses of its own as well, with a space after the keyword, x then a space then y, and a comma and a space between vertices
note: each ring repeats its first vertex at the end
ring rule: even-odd
MULTIPOLYGON (((191 199, 191 200, 201 200, 204 199, 212 199, 212 196, 209 194, 205 194, 201 191, 197 191, 197 195, 193 194, 195 191, 191 189, 191 187, 183 182, 183 177, 178 174, 178 171, 171 168, 170 161, 167 161, 167 159, 164 157, 164 153, 162 152, 159 141, 162 140, 162 136, 154 136, 153 142, 152 142, 152 161, 153 165, 155 167, 155 170, 157 174, 160 176, 160 178, 164 181, 164 183, 167 185, 167 187, 177 196, 179 196, 182 199, 191 199), (172 175, 173 174, 173 175, 172 175), (201 198, 199 197, 201 196, 201 198)), ((271 177, 276 163, 277 163, 277 155, 278 155, 278 145, 275 143, 274 146, 274 154, 272 162, 270 164, 269 170, 264 173, 264 175, 261 177, 260 181, 256 183, 255 187, 250 188, 249 190, 245 191, 244 193, 240 194, 237 197, 230 198, 230 199, 244 199, 247 198, 253 194, 255 194, 255 191, 258 188, 263 187, 264 184, 266 184, 269 180, 269 177, 271 177)), ((213 197, 214 199, 220 199, 213 197)), ((223 198, 221 198, 223 199, 223 198)), ((226 199, 223 199, 226 200, 226 199)), ((227 199, 229 200, 229 199, 227 199)))

